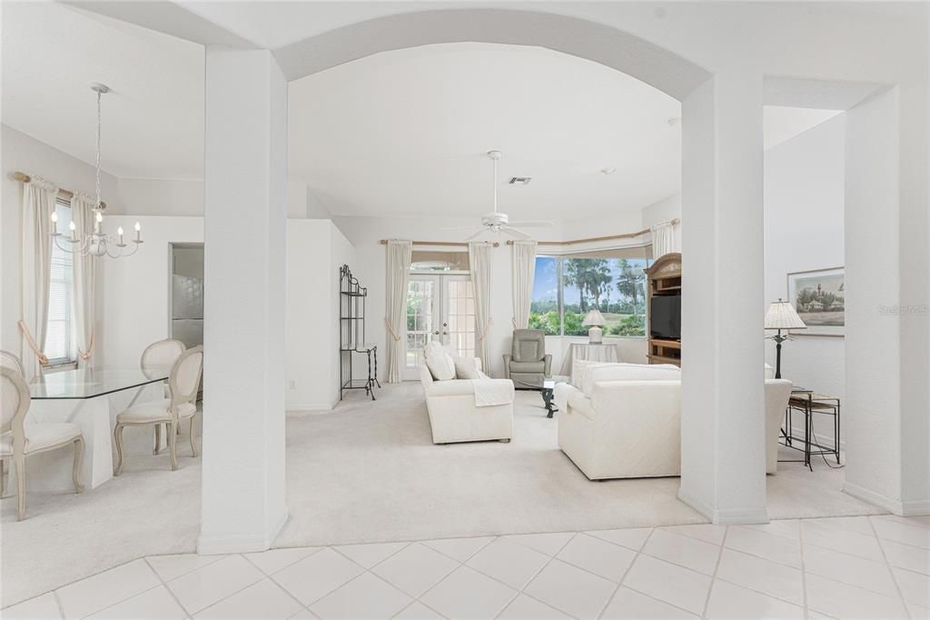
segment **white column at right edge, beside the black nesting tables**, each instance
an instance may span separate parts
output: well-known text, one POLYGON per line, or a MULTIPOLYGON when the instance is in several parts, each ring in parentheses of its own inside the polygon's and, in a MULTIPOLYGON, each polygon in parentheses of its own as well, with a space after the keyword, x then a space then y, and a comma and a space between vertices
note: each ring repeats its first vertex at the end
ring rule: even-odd
POLYGON ((846 113, 844 491, 930 514, 926 88, 846 113))

